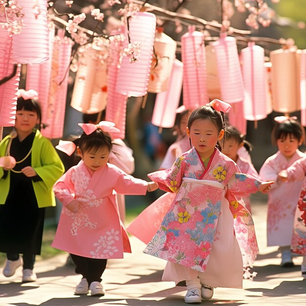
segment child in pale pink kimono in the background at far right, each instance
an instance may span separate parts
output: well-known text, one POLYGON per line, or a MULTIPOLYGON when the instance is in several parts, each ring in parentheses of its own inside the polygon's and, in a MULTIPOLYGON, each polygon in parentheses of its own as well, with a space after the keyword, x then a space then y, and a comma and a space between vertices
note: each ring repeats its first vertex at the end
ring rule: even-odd
POLYGON ((298 150, 304 141, 304 128, 296 117, 275 118, 272 143, 278 152, 267 158, 260 170, 263 180, 274 180, 268 194, 267 245, 280 247, 281 266, 293 266, 290 244, 294 213, 302 187, 302 181, 283 182, 278 179, 280 171, 290 167, 296 160, 306 156, 298 150))

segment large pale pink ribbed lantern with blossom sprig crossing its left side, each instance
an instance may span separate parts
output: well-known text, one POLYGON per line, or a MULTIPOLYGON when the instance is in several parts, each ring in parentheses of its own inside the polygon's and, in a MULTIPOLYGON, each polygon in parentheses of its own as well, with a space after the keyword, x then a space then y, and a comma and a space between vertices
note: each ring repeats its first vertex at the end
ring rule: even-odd
MULTIPOLYGON (((135 42, 141 44, 140 56, 133 63, 130 57, 123 56, 117 79, 117 92, 129 97, 141 97, 147 94, 155 27, 156 17, 152 13, 140 12, 129 20, 130 41, 131 44, 135 42)), ((127 38, 124 43, 127 47, 129 44, 127 38)))

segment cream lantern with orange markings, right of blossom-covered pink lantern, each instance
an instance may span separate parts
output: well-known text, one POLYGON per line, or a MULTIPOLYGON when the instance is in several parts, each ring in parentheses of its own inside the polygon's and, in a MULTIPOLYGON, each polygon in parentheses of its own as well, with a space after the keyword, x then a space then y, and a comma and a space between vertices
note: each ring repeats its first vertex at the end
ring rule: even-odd
POLYGON ((153 93, 168 89, 171 70, 175 60, 176 43, 162 31, 162 28, 156 29, 154 40, 153 61, 148 85, 148 92, 153 93))

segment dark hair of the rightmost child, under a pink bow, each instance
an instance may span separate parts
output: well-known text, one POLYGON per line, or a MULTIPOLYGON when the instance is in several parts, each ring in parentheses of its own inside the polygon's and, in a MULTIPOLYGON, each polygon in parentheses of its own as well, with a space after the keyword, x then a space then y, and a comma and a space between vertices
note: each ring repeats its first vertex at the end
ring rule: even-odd
POLYGON ((292 135, 298 141, 304 138, 305 143, 305 130, 302 127, 301 123, 295 119, 285 120, 282 123, 277 123, 272 130, 272 144, 277 145, 278 139, 284 139, 287 135, 292 135))

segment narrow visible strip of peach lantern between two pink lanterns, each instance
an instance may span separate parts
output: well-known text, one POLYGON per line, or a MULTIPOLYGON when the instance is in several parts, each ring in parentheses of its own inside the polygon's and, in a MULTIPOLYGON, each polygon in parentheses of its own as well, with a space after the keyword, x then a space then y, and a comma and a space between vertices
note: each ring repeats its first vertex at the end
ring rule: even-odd
POLYGON ((220 84, 218 75, 217 58, 215 48, 212 44, 205 46, 206 70, 207 70, 207 92, 210 100, 220 99, 220 84))

